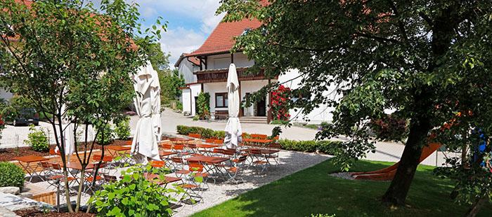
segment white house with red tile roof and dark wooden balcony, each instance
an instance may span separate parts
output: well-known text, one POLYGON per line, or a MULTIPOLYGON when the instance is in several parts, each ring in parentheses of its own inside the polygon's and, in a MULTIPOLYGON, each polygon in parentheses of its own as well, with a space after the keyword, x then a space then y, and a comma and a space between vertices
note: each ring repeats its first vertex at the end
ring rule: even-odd
MULTIPOLYGON (((257 20, 248 19, 239 22, 220 22, 198 50, 181 55, 174 66, 179 69, 186 83, 186 87, 181 88, 183 90, 181 97, 183 113, 195 116, 195 102, 198 94, 208 92, 212 118, 226 118, 228 106, 226 80, 228 66, 231 63, 234 63, 238 69, 241 99, 261 89, 264 85, 276 81, 285 82, 283 85, 291 89, 299 87, 299 81, 302 78, 296 78, 299 73, 295 69, 278 78, 268 79, 265 78, 263 71, 254 74, 245 72, 245 69, 254 65, 254 60, 247 59, 242 52, 231 54, 230 50, 235 43, 233 38, 244 34, 249 29, 260 27, 260 25, 261 23, 257 20)), ((268 94, 265 99, 254 102, 252 106, 240 109, 240 119, 243 122, 269 123, 271 120, 269 99, 268 94)), ((308 116, 297 115, 295 111, 290 111, 290 115, 295 122, 303 122, 304 118, 307 118, 311 120, 311 123, 321 123, 332 120, 332 110, 332 108, 321 105, 308 116)))

